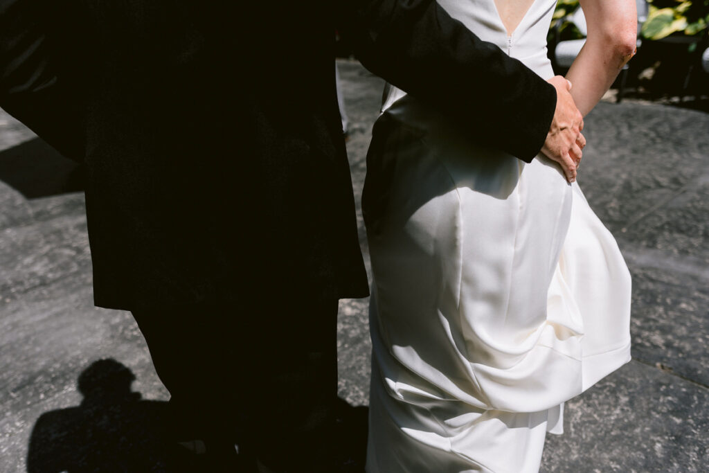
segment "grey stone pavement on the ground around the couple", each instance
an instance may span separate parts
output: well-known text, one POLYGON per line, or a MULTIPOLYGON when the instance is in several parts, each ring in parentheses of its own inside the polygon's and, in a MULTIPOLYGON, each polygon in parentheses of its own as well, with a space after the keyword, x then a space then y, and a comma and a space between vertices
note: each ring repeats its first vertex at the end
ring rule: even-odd
MULTIPOLYGON (((356 62, 339 67, 359 202, 382 82, 356 62)), ((585 132, 579 183, 632 272, 633 360, 567 403, 566 432, 548 436, 542 471, 707 471, 709 114, 601 103, 585 132)), ((128 367, 133 391, 152 401, 142 406, 167 399, 130 314, 91 304, 84 200, 72 192, 75 173, 71 162, 0 111, 0 472, 26 471, 28 456, 29 471, 45 471, 33 465, 61 456, 59 444, 91 455, 98 447, 82 445, 86 438, 61 443, 82 415, 92 431, 130 423, 140 410, 116 414, 105 403, 105 409, 84 409, 96 372, 121 371, 118 363, 88 369, 96 360, 113 358, 128 367), (59 417, 65 421, 55 422, 59 417)), ((367 258, 361 215, 359 235, 367 258)), ((337 343, 340 396, 365 405, 366 299, 341 302, 337 343)), ((112 439, 139 443, 125 435, 112 439)))

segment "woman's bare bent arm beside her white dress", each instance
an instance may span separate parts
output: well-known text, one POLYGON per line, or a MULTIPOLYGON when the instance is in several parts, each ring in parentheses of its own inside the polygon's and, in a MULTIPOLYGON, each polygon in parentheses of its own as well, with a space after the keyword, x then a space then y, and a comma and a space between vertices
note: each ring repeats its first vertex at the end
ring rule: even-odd
POLYGON ((635 51, 635 0, 581 0, 588 38, 566 79, 574 84, 571 96, 586 116, 598 104, 620 69, 635 51))

